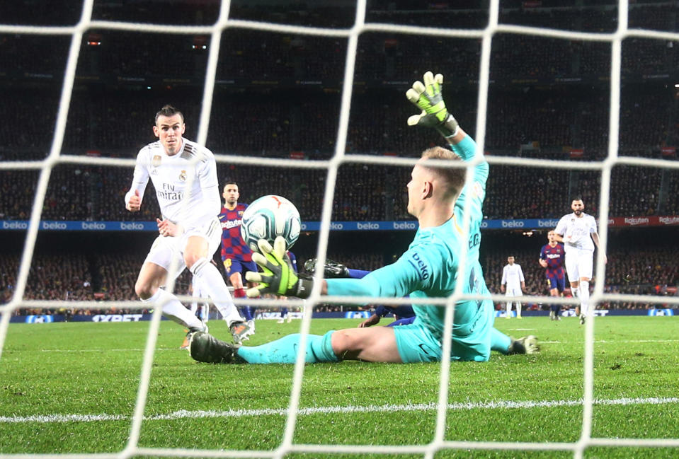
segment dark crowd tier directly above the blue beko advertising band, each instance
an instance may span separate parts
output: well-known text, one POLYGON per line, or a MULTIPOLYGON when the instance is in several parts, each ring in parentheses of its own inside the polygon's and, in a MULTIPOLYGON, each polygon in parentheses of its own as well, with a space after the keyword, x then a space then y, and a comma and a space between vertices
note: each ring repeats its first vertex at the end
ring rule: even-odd
MULTIPOLYGON (((319 221, 326 172, 304 168, 218 166, 220 180, 235 180, 241 201, 279 194, 295 202, 304 221, 319 221)), ((0 173, 0 219, 25 220, 33 206, 38 173, 0 173)), ((57 166, 42 206, 43 220, 154 221, 154 188, 147 187, 142 211, 122 206, 132 170, 101 166, 57 166)), ((338 170, 333 221, 410 220, 406 211, 408 170, 398 166, 346 164, 338 170)), ((609 216, 678 215, 678 172, 618 165, 612 169, 609 216)), ((487 219, 556 218, 568 211, 571 190, 581 190, 588 212, 598 215, 600 173, 491 165, 484 214, 487 219)))

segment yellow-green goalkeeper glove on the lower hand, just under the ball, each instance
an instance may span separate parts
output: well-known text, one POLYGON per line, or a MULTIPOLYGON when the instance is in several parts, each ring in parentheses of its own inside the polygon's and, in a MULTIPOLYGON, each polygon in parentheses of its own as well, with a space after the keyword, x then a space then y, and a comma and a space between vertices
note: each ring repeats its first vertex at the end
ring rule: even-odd
POLYGON ((248 289, 246 294, 250 298, 260 296, 260 293, 283 296, 309 298, 314 288, 312 279, 304 279, 295 274, 290 257, 285 250, 285 239, 278 236, 273 241, 273 248, 266 239, 257 241, 261 253, 253 253, 252 260, 259 265, 263 272, 247 272, 245 278, 251 282, 258 282, 258 286, 248 289))

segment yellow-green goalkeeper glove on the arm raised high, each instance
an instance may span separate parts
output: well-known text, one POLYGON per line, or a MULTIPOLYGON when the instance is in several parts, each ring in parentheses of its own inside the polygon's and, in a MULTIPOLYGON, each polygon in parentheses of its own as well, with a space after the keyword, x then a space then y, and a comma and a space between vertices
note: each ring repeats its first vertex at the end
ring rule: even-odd
POLYGON ((408 118, 408 125, 433 127, 444 137, 457 134, 457 120, 448 113, 441 95, 443 75, 434 76, 430 71, 424 74, 424 83, 416 81, 413 87, 406 91, 406 98, 422 112, 408 118))

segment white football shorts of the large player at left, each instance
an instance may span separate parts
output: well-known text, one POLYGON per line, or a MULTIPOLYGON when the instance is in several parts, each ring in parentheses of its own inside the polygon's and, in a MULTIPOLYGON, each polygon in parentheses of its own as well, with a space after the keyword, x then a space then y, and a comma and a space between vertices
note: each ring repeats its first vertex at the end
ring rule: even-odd
POLYGON ((222 225, 215 216, 214 219, 210 219, 210 221, 202 226, 190 228, 181 236, 158 236, 156 240, 154 240, 151 250, 149 250, 149 255, 147 255, 144 263, 152 262, 164 267, 169 272, 170 265, 174 259, 177 264, 177 270, 175 272, 176 278, 181 274, 184 268, 186 268, 183 253, 190 236, 200 236, 207 240, 207 260, 211 260, 212 256, 215 255, 215 251, 219 248, 219 244, 222 242, 222 225))

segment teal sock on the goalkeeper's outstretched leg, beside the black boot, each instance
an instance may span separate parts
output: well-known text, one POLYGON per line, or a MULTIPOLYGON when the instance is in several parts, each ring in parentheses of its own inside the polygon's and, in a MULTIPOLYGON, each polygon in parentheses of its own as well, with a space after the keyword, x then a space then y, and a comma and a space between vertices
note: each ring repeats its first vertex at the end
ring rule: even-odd
MULTIPOLYGON (((307 364, 339 361, 333 352, 330 337, 334 332, 323 336, 307 335, 307 349, 304 361, 307 364)), ((295 333, 261 346, 243 346, 236 352, 249 364, 294 364, 302 335, 295 333)))

